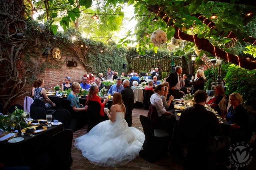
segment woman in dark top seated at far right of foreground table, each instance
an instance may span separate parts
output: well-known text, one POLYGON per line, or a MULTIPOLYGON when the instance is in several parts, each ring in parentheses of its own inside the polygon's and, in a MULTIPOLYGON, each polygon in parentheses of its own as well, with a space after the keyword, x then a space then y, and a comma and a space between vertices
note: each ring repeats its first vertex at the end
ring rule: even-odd
POLYGON ((238 93, 232 93, 229 96, 231 107, 228 109, 225 120, 230 124, 232 143, 242 142, 246 136, 248 113, 242 106, 242 101, 238 93))

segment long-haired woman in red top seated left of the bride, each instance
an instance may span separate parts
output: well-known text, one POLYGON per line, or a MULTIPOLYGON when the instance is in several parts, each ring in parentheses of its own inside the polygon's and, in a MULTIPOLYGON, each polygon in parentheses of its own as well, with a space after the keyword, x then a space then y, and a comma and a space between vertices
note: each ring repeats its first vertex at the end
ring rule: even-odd
POLYGON ((97 95, 99 93, 99 87, 98 85, 92 85, 90 87, 89 93, 87 95, 86 98, 86 104, 89 104, 90 101, 97 101, 98 103, 100 103, 101 105, 101 109, 100 109, 100 115, 102 116, 100 118, 100 120, 104 121, 104 106, 106 104, 106 102, 108 102, 108 98, 104 99, 103 102, 101 103, 101 99, 100 97, 97 95))

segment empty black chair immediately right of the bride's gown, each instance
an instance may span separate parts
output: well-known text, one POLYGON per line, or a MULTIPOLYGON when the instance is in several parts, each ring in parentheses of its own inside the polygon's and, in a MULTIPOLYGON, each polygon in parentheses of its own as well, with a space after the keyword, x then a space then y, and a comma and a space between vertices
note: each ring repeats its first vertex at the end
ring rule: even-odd
POLYGON ((170 134, 164 130, 154 129, 152 121, 146 116, 140 115, 140 122, 145 134, 140 157, 151 163, 166 158, 170 134))

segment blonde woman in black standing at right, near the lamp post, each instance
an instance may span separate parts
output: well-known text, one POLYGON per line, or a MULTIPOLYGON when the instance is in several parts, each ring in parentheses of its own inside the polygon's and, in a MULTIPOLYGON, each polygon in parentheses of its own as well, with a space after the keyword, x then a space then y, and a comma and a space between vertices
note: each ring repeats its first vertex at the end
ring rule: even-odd
POLYGON ((194 76, 192 76, 192 94, 194 94, 197 90, 204 90, 204 71, 202 70, 197 70, 196 73, 197 79, 194 81, 194 76))

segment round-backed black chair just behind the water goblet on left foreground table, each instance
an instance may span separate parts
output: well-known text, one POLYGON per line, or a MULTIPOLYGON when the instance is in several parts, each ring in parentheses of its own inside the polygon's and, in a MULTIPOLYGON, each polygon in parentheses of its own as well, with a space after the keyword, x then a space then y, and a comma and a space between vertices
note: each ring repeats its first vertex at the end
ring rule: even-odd
POLYGON ((53 114, 53 120, 58 120, 59 122, 63 123, 63 129, 69 129, 70 121, 71 121, 71 114, 66 109, 58 109, 53 114))

